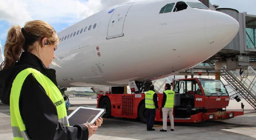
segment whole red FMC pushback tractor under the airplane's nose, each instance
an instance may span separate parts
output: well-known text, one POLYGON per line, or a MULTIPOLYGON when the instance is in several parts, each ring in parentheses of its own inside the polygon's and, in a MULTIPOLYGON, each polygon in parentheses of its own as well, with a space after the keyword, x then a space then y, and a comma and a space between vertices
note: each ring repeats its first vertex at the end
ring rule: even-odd
MULTIPOLYGON (((220 80, 199 78, 173 80, 172 90, 175 92, 174 122, 223 120, 244 114, 244 111, 226 110, 230 97, 220 80)), ((163 121, 161 108, 163 94, 158 93, 157 96, 159 109, 156 110, 155 120, 163 121)), ((106 109, 103 116, 105 118, 139 118, 142 122, 146 122, 144 93, 98 94, 97 107, 106 109)))

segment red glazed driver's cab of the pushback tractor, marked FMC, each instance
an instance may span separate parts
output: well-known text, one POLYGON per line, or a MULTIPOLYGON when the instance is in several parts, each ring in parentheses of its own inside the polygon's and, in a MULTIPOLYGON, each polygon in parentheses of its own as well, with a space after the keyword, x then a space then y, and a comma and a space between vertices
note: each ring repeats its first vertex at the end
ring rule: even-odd
POLYGON ((220 80, 188 78, 173 80, 175 117, 186 118, 207 109, 222 111, 229 95, 220 80))

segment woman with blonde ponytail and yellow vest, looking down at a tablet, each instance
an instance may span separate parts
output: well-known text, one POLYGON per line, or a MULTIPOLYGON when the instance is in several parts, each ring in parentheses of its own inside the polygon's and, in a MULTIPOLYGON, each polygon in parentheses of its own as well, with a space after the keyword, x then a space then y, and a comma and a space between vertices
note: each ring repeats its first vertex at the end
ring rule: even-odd
POLYGON ((102 124, 70 127, 55 70, 49 65, 59 38, 41 20, 12 26, 4 45, 0 71, 0 99, 10 105, 14 140, 87 140, 102 124))

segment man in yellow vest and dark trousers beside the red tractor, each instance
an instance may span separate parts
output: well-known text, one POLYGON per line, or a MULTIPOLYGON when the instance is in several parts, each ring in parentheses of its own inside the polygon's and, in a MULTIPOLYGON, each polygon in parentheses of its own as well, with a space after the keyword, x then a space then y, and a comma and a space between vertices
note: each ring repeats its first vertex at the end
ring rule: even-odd
POLYGON ((146 92, 145 107, 147 109, 147 130, 154 131, 156 109, 158 109, 157 94, 154 91, 154 85, 150 85, 148 92, 146 92))

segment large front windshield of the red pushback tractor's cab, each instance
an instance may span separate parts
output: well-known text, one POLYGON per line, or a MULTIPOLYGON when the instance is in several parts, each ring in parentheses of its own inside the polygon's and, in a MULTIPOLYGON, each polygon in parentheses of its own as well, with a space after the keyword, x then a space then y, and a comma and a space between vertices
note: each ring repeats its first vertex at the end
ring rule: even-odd
POLYGON ((228 96, 227 89, 220 80, 201 79, 205 96, 228 96))

